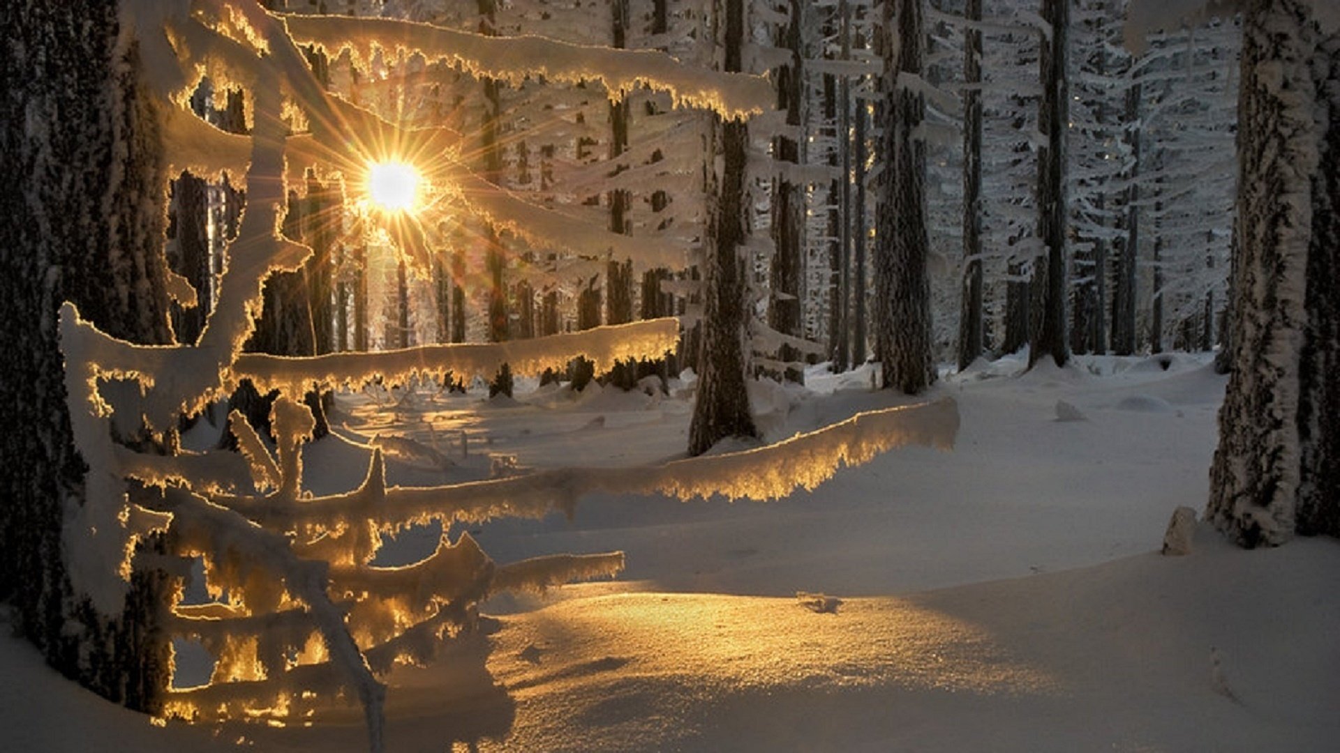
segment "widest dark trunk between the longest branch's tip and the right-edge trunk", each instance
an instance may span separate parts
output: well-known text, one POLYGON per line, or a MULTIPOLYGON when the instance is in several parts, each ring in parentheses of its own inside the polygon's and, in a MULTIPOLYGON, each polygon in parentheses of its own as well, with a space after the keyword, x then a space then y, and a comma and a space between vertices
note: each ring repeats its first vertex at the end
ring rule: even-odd
POLYGON ((1040 300, 1040 311, 1030 323, 1033 336, 1028 360, 1033 364, 1051 355, 1057 366, 1064 366, 1069 359, 1069 343, 1065 340, 1065 131, 1069 127, 1065 39, 1069 1, 1043 0, 1043 20, 1048 28, 1044 29, 1038 55, 1043 96, 1037 130, 1047 142, 1037 150, 1037 206, 1041 212, 1037 234, 1047 256, 1033 268, 1033 295, 1040 300))

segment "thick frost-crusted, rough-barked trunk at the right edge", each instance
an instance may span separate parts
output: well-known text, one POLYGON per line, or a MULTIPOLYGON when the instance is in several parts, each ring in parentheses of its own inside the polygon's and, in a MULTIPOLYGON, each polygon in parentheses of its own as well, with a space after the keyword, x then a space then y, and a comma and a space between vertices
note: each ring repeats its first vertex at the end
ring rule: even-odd
POLYGON ((1244 19, 1233 370, 1206 519, 1244 547, 1340 535, 1340 46, 1308 3, 1244 19))

